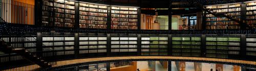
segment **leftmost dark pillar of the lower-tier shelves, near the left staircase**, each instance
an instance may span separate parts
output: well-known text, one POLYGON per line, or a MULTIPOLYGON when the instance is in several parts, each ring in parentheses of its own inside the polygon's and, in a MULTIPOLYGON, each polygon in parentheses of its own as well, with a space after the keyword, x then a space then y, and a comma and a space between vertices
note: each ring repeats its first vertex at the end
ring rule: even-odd
POLYGON ((37 32, 36 41, 37 41, 37 43, 36 43, 36 46, 37 46, 36 54, 38 56, 41 56, 42 55, 42 53, 41 53, 42 52, 42 36, 41 36, 40 32, 37 32))

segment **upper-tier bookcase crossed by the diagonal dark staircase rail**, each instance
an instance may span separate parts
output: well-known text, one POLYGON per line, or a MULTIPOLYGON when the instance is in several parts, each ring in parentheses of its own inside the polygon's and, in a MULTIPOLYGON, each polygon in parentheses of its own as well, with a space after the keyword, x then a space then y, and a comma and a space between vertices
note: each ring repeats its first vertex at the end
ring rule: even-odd
MULTIPOLYGON (((205 7, 213 13, 221 13, 241 20, 241 4, 212 5, 205 7)), ((231 21, 226 17, 216 17, 206 13, 206 29, 240 29, 240 25, 238 22, 231 21)))

